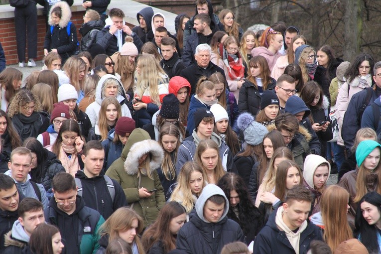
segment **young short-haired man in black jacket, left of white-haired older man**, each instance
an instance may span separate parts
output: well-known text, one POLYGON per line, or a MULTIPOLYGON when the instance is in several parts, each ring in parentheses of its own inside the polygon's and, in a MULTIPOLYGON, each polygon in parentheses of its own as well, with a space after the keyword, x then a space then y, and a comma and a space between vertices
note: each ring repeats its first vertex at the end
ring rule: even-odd
POLYGON ((161 39, 161 54, 163 59, 160 61, 161 67, 164 69, 168 78, 179 76, 180 72, 185 69, 184 63, 179 58, 176 51, 176 41, 171 37, 161 39))

